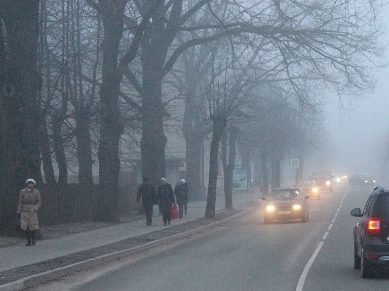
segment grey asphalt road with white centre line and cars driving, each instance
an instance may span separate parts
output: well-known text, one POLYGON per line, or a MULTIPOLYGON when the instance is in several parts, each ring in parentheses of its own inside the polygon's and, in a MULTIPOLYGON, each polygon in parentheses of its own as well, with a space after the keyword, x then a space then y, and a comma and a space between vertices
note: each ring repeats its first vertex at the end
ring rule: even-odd
POLYGON ((264 225, 258 210, 151 256, 100 269, 67 289, 384 290, 389 276, 362 279, 353 268, 352 233, 358 218, 349 213, 363 209, 372 189, 346 186, 322 193, 321 200, 309 200, 307 223, 264 225))

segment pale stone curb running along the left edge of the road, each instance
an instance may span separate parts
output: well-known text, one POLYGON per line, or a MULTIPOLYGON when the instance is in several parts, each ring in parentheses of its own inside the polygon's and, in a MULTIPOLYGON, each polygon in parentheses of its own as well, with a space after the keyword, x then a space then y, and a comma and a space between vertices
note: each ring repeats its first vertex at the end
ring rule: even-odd
POLYGON ((78 262, 78 263, 74 263, 74 264, 64 266, 61 268, 57 268, 54 270, 46 271, 46 272, 43 272, 41 274, 28 276, 28 277, 19 279, 19 280, 14 281, 14 282, 0 285, 0 291, 20 291, 24 288, 32 287, 34 285, 44 283, 44 282, 49 281, 49 280, 54 280, 54 279, 63 277, 65 275, 68 275, 68 274, 73 273, 73 272, 93 268, 93 267, 98 266, 100 264, 109 263, 109 262, 118 260, 122 257, 127 257, 130 255, 136 254, 138 252, 148 250, 149 248, 152 248, 152 247, 155 247, 155 246, 158 246, 158 245, 170 242, 170 241, 180 239, 182 237, 187 236, 188 234, 196 233, 196 232, 199 232, 199 231, 202 231, 205 229, 212 228, 218 224, 222 224, 222 223, 228 222, 230 220, 234 220, 240 216, 243 216, 243 215, 246 215, 250 212, 253 212, 254 210, 255 210, 255 207, 251 207, 248 210, 245 210, 245 211, 240 212, 236 215, 230 216, 226 219, 216 221, 216 222, 213 222, 213 223, 210 223, 210 224, 207 224, 207 225, 195 228, 195 229, 191 229, 191 230, 188 230, 188 231, 185 231, 182 233, 177 233, 177 234, 174 234, 174 235, 169 236, 169 237, 153 240, 153 241, 147 242, 145 244, 129 248, 128 250, 113 252, 111 254, 106 254, 104 256, 89 259, 87 261, 78 262))

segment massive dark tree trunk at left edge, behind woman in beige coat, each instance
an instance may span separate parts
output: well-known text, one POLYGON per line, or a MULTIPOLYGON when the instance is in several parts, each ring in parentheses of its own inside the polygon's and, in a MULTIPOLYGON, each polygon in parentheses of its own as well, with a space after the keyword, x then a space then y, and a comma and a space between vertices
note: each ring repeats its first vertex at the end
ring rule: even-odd
POLYGON ((37 0, 2 1, 4 26, 0 34, 0 195, 4 214, 0 222, 8 230, 16 224, 17 199, 27 178, 42 183, 38 135, 41 87, 37 74, 37 0))

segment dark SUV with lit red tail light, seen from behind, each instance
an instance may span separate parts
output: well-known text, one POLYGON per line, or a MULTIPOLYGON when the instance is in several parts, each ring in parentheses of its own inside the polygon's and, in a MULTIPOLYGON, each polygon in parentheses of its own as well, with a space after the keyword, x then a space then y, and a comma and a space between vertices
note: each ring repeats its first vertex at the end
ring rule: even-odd
POLYGON ((377 187, 352 216, 361 217, 354 227, 354 268, 369 278, 379 265, 389 265, 389 188, 377 187))

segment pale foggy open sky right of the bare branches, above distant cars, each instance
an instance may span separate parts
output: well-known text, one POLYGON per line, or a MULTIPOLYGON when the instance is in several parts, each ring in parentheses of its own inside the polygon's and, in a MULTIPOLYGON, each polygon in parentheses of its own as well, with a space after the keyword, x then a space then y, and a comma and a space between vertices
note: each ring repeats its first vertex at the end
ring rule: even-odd
MULTIPOLYGON (((389 7, 383 12, 383 24, 389 28, 389 7)), ((389 44, 389 33, 381 38, 383 45, 389 44)), ((386 50, 384 62, 389 63, 386 50)), ((333 96, 326 105, 326 128, 329 133, 328 143, 323 155, 328 155, 327 162, 318 162, 317 157, 307 162, 308 175, 318 168, 328 167, 328 171, 350 177, 354 174, 371 173, 379 183, 388 184, 387 171, 380 170, 382 145, 389 132, 389 68, 381 69, 377 75, 377 89, 365 98, 347 102, 346 110, 339 109, 338 98, 333 96), (324 167, 322 167, 324 166, 324 167), (381 174, 382 172, 382 174, 381 174)), ((326 160, 326 159, 324 159, 326 160)), ((323 170, 323 169, 322 169, 323 170)))

